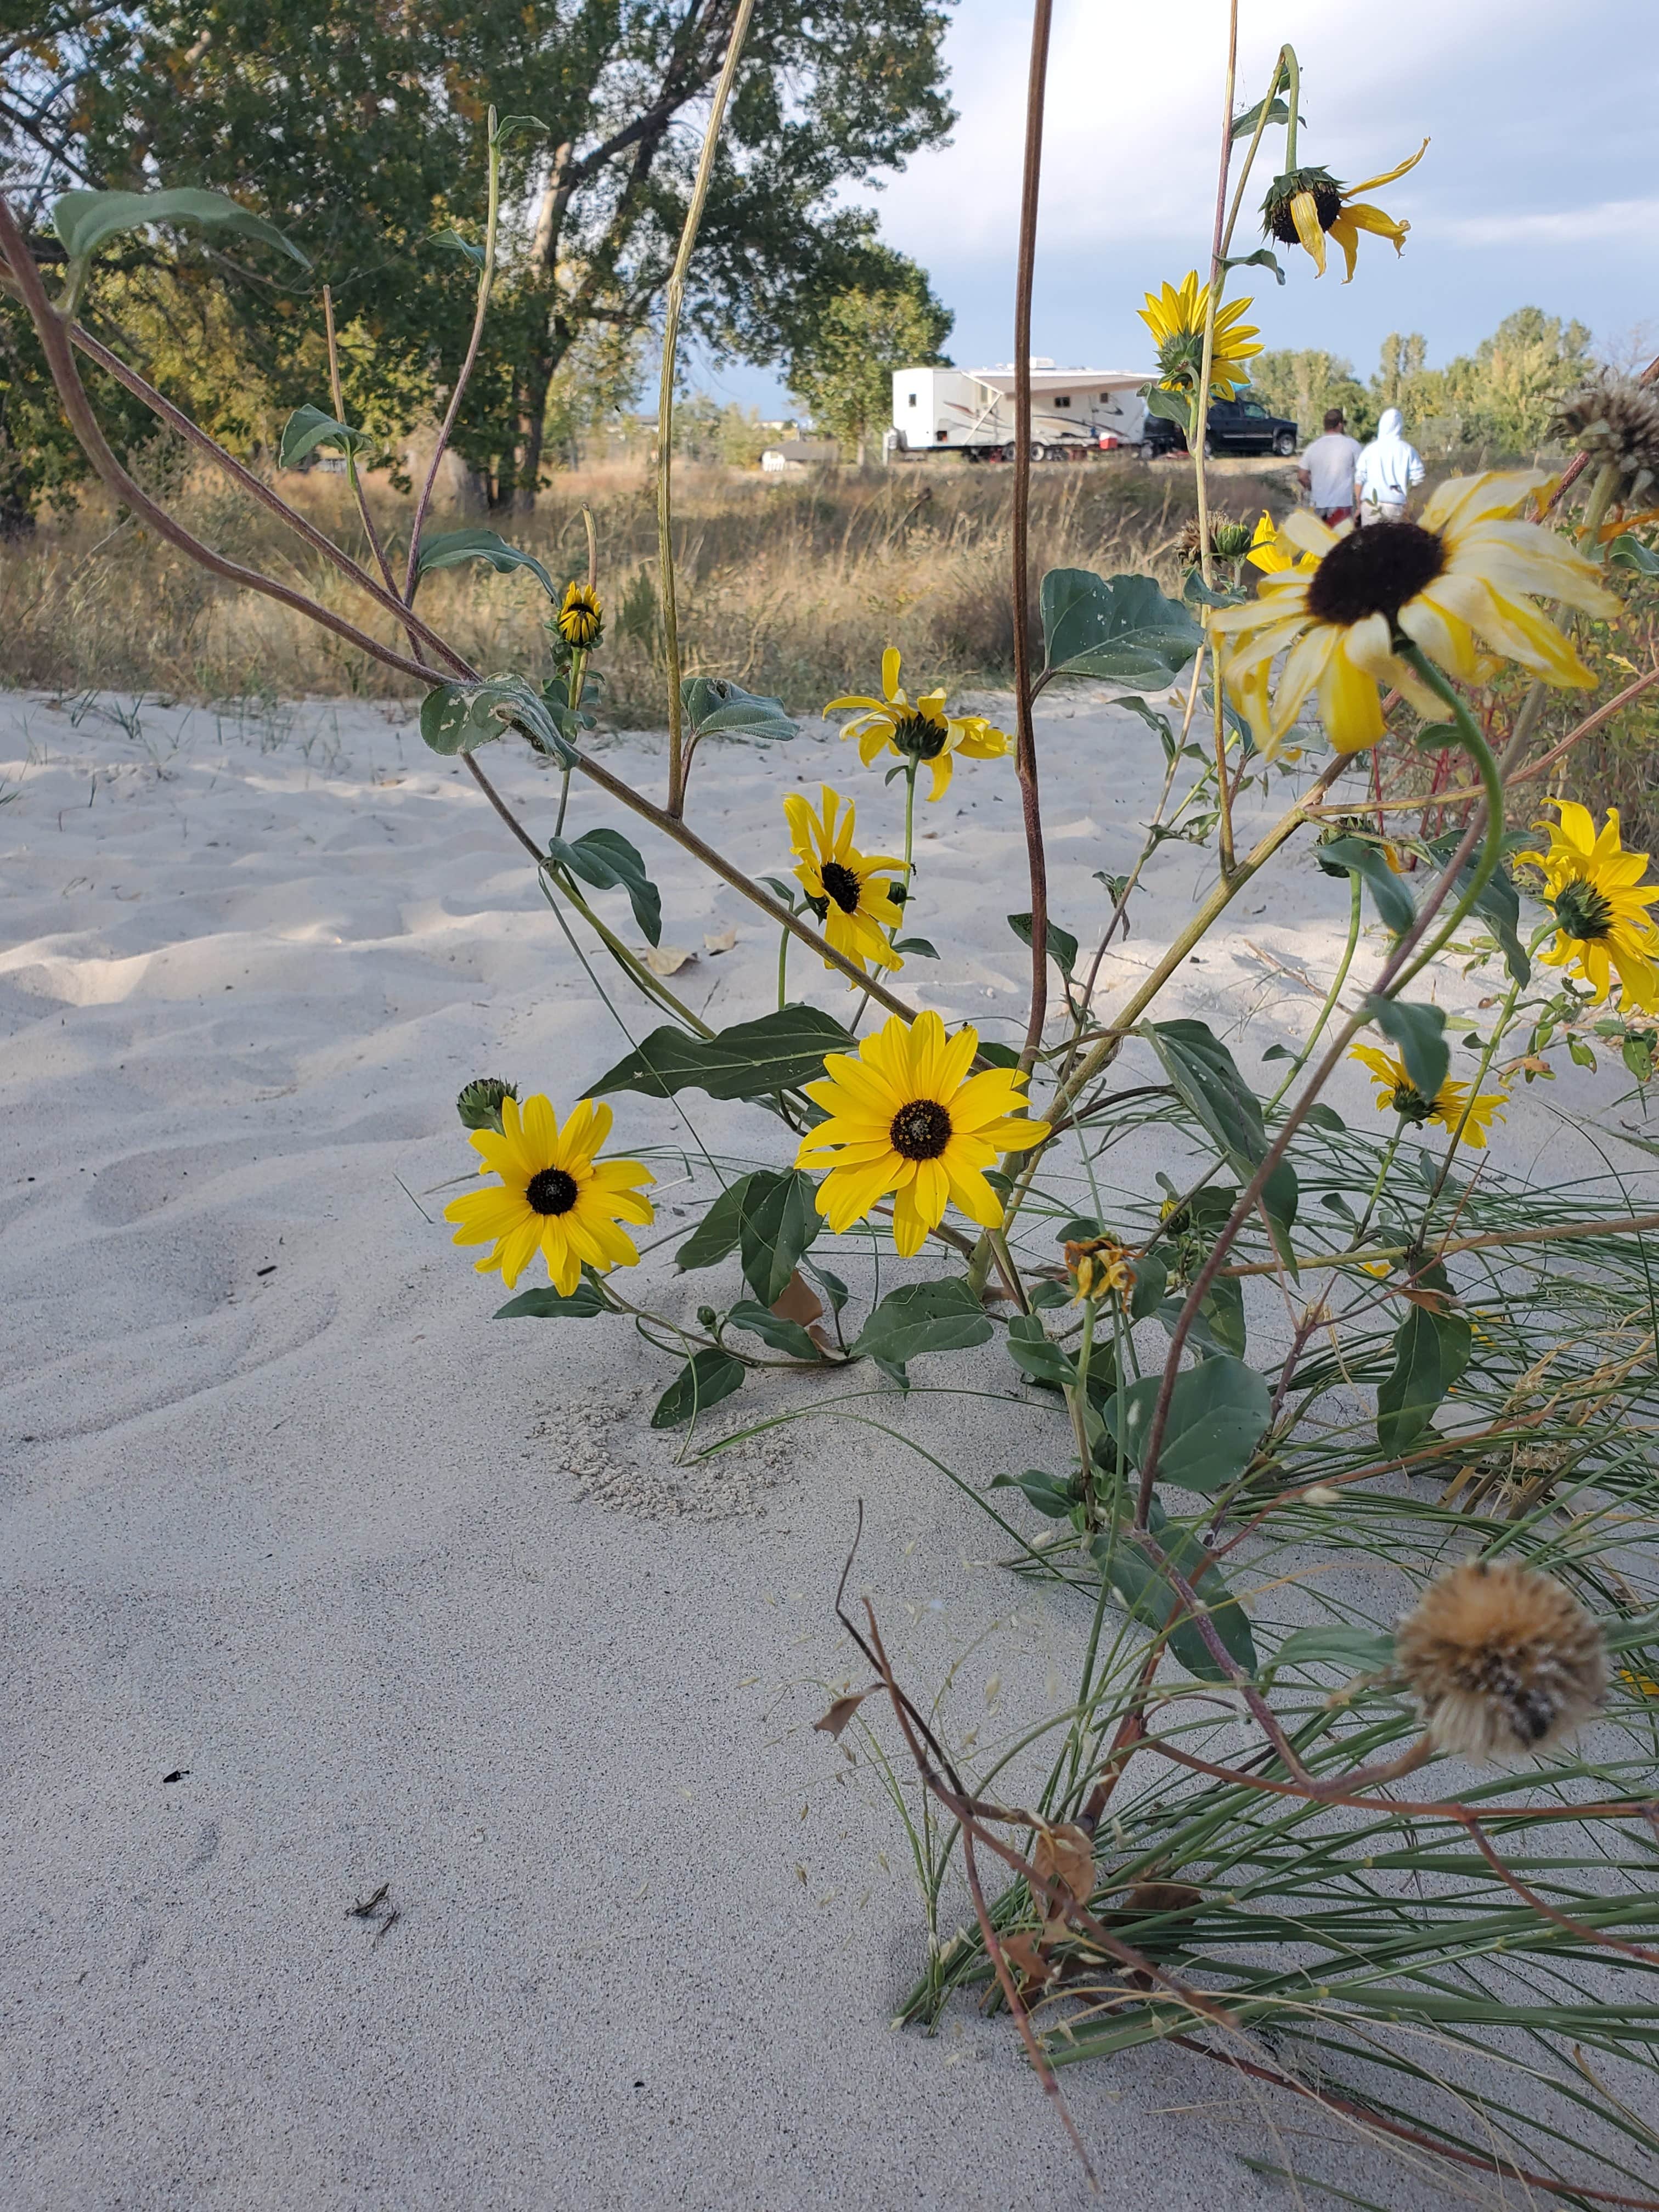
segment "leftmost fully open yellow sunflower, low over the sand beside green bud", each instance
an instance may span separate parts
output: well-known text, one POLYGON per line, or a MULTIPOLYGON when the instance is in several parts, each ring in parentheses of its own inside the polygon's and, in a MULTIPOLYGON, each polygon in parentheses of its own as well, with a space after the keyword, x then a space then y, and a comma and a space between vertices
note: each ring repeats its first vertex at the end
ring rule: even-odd
POLYGON ((473 1130, 473 1150, 484 1170, 500 1175, 500 1190, 469 1190, 445 1206, 445 1221, 458 1221, 456 1243, 487 1243, 480 1274, 500 1267, 511 1290, 540 1250, 562 1298, 568 1298, 584 1267, 633 1267, 639 1254, 617 1221, 650 1223, 650 1199, 637 1183, 655 1175, 637 1159, 599 1159, 611 1135, 611 1108, 591 1099, 560 1128, 544 1097, 500 1102, 502 1130, 473 1130))

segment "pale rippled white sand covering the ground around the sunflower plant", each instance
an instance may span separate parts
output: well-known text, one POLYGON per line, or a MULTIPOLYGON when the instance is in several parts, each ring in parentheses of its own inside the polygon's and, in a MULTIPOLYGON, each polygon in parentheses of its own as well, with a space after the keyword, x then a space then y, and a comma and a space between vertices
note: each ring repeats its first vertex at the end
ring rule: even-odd
MULTIPOLYGON (((1088 936, 1157 748, 1086 706, 1042 741, 1053 905, 1088 936)), ((659 781, 648 739, 611 761, 659 781)), ((551 825, 546 774, 507 748, 491 770, 551 825)), ((865 841, 896 834, 896 792, 821 732, 710 750, 692 816, 776 869, 779 794, 823 772, 856 781, 865 841)), ((872 1429, 677 1469, 644 1427, 655 1352, 491 1325, 500 1287, 429 1194, 469 1164, 453 1093, 509 1073, 568 1102, 624 1046, 482 799, 378 710, 144 706, 131 730, 15 695, 0 790, 0 2201, 1084 2203, 1006 2022, 889 2031, 920 1955, 902 1834, 807 1730, 847 1672, 830 1604, 856 1498, 860 1579, 918 1686, 1004 1621, 958 1728, 993 1670, 1004 1719, 1040 1710, 1077 1624, 975 1564, 995 1531, 872 1429), (380 1882, 385 1933, 347 1918, 380 1882)), ((964 770, 925 827, 914 927, 947 960, 902 984, 1013 1035, 1006 765, 964 770)), ((692 1002, 763 1011, 770 933, 641 843, 672 942, 739 931, 681 978, 692 1002)), ((1113 995, 1206 867, 1166 852, 1113 995)), ((619 896, 604 911, 622 927, 619 896)), ((1254 1015, 1254 1071, 1316 1000, 1245 940, 1323 978, 1345 914, 1292 860, 1166 1006, 1254 1015)), ((794 978, 845 1011, 799 956, 794 978)), ((1369 1115, 1358 1079, 1336 1102, 1369 1115)), ((615 1104, 628 1139, 684 1139, 672 1108, 615 1104)), ((1548 1104, 1520 1104, 1515 1161, 1553 1141, 1548 1104)), ((776 1157, 765 1117, 686 1106, 717 1150, 776 1157)), ((686 1310, 734 1267, 677 1281, 664 1250, 639 1279, 686 1310)), ((1009 1389, 995 1347, 936 1378, 1009 1389)), ((973 1486, 1053 1438, 987 1400, 858 1407, 973 1486)), ((1290 2201, 1228 2148, 1276 2154, 1219 2068, 1157 2055, 1066 2088, 1108 2201, 1290 2201)), ((1298 2157, 1444 2201, 1347 2148, 1298 2157)))

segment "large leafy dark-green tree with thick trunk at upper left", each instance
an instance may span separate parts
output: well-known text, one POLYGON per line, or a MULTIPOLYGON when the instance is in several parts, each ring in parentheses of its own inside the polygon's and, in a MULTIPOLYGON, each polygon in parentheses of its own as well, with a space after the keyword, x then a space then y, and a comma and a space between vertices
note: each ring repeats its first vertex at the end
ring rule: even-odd
MULTIPOLYGON (((13 0, 15 4, 15 0, 13 0)), ((845 290, 869 217, 836 208, 951 124, 949 0, 759 0, 714 161, 686 325, 714 356, 787 352, 805 294, 845 290)), ((349 407, 407 429, 453 372, 480 237, 484 117, 533 115, 504 166, 502 283, 458 449, 533 495, 560 363, 595 325, 648 325, 679 241, 737 0, 40 0, 9 35, 0 175, 40 215, 64 184, 201 184, 292 234, 334 288, 349 407)), ((319 389, 307 285, 204 254, 257 367, 319 389)), ((137 246, 126 263, 166 259, 137 246)))

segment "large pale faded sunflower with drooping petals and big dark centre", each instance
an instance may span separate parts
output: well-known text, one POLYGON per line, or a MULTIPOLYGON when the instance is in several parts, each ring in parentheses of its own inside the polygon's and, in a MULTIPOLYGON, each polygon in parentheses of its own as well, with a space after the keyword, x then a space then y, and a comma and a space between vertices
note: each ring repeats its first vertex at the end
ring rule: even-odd
POLYGON ((1245 606, 1210 615, 1225 686, 1256 745, 1265 754, 1279 748, 1314 686, 1338 752, 1360 752, 1383 737, 1378 684, 1400 690, 1425 721, 1444 721, 1444 701, 1398 657, 1400 637, 1467 684, 1493 672, 1480 637, 1489 653, 1546 684, 1593 688, 1590 670, 1526 595, 1590 615, 1613 615, 1619 602, 1562 538, 1515 520, 1544 482, 1537 469, 1453 476, 1429 495, 1422 522, 1363 531, 1352 522, 1332 531, 1305 507, 1285 515, 1276 546, 1298 546, 1314 560, 1265 575, 1245 606), (1285 648, 1267 712, 1263 670, 1285 648))

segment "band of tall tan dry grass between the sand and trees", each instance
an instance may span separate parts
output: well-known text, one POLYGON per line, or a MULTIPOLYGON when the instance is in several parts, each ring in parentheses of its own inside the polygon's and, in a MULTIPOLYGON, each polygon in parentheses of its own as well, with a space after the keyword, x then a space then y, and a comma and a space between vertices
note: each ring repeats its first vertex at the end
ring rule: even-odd
MULTIPOLYGON (((179 471, 166 449, 170 504, 197 535, 250 566, 303 584, 365 628, 389 626, 305 546, 217 478, 179 471)), ((1283 473, 1283 471, 1281 471, 1283 473)), ((1000 679, 1013 659, 1006 469, 911 465, 880 476, 827 471, 785 482, 730 469, 677 478, 677 588, 688 675, 734 677, 785 706, 816 708, 847 684, 874 681, 896 644, 927 677, 1000 679)), ((367 562, 343 478, 283 478, 283 495, 367 562)), ((1241 513, 1263 484, 1239 487, 1241 513)), ((411 502, 372 487, 376 520, 407 546, 411 502)), ((626 469, 562 476, 531 515, 491 526, 535 553, 555 580, 586 568, 582 504, 595 515, 606 599, 606 714, 661 721, 657 641, 657 515, 650 480, 626 469)), ((1097 460, 1040 471, 1033 538, 1044 566, 1179 577, 1175 544, 1192 511, 1190 471, 1097 460)), ((436 515, 436 529, 473 522, 436 515)), ((529 575, 482 564, 447 568, 420 588, 420 611, 489 670, 544 666, 546 599, 529 575)), ((365 666, 325 630, 270 599, 204 575, 104 495, 33 538, 0 546, 4 681, 46 688, 170 692, 230 699, 396 697, 396 670, 365 666)))

